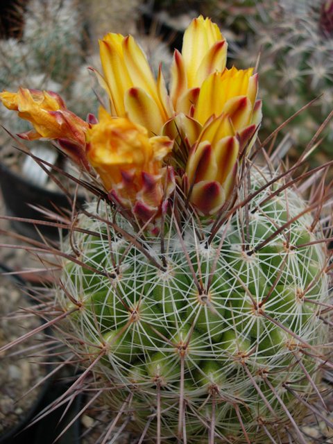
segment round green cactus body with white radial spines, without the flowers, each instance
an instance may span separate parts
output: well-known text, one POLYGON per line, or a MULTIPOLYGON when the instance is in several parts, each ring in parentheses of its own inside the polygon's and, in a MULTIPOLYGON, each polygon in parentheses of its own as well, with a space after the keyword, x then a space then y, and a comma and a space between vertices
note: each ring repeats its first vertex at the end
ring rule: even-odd
MULTIPOLYGON (((270 178, 252 172, 250 192, 270 178)), ((296 191, 260 205, 270 194, 259 191, 210 241, 210 223, 190 212, 183 221, 169 216, 164 236, 139 236, 92 203, 92 215, 78 219, 83 232, 62 245, 72 254, 74 241, 84 264, 65 262, 66 292, 57 290, 64 309, 79 307, 67 318, 82 339, 76 352, 103 355, 95 373, 110 388, 110 408, 123 409, 136 432, 148 425, 152 442, 208 443, 212 434, 271 442, 289 423, 286 408, 295 420, 302 414, 292 393, 309 396, 306 373, 317 379, 313 356, 327 334, 319 317, 329 286, 325 243, 311 244, 322 234, 310 232, 296 191)))

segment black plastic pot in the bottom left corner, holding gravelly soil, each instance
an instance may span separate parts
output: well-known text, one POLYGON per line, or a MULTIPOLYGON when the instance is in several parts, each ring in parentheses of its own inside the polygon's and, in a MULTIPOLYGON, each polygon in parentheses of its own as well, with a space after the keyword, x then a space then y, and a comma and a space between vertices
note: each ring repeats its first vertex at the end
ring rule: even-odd
MULTIPOLYGON (((0 264, 0 274, 8 273, 8 269, 3 264, 0 264)), ((17 275, 8 275, 8 279, 11 279, 18 285, 18 287, 24 287, 26 290, 26 284, 24 280, 17 275)), ((45 330, 46 334, 50 334, 49 329, 45 330)), ((52 370, 53 365, 47 364, 47 369, 52 370)), ((59 423, 59 420, 64 413, 67 404, 65 406, 56 409, 52 413, 49 413, 45 418, 36 422, 31 427, 27 427, 29 422, 33 420, 33 417, 49 406, 51 402, 59 398, 62 393, 67 391, 68 384, 56 380, 56 377, 52 376, 47 378, 40 387, 40 393, 37 396, 34 404, 28 411, 25 412, 22 420, 8 430, 5 434, 0 436, 0 444, 53 444, 56 437, 60 434, 61 430, 66 427, 67 424, 77 415, 81 409, 83 402, 83 396, 78 395, 74 402, 66 412, 65 419, 59 423), (26 428, 27 427, 27 428, 26 428)), ((80 419, 76 420, 65 434, 57 441, 58 444, 77 444, 80 443, 80 419)))

